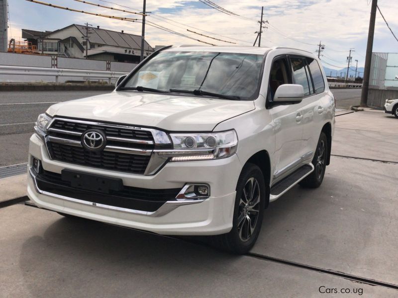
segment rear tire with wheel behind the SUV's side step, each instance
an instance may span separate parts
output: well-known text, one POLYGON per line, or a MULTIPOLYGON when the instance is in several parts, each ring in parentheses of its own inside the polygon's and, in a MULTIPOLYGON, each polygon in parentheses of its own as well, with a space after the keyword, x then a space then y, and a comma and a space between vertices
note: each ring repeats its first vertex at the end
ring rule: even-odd
POLYGON ((303 187, 317 188, 322 184, 328 153, 327 137, 324 132, 321 132, 318 144, 316 145, 315 155, 312 159, 314 170, 311 174, 298 182, 299 185, 303 187))

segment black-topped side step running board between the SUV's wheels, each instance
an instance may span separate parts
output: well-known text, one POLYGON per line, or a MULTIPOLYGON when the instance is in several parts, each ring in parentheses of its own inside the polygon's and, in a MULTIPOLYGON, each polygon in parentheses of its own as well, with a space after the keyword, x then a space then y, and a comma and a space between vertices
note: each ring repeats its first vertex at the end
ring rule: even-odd
POLYGON ((275 201, 314 170, 312 163, 304 164, 271 187, 270 202, 275 201))

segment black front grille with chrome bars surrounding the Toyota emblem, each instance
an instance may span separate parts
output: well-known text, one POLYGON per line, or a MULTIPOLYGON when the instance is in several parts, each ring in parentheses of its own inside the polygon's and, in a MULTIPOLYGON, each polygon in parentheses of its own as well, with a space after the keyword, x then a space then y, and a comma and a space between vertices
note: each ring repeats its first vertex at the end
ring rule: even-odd
POLYGON ((135 174, 153 174, 166 159, 152 154, 158 130, 75 119, 54 118, 45 137, 50 157, 55 160, 135 174), (99 130, 106 146, 93 151, 83 146, 88 130, 99 130), (151 160, 152 159, 152 160, 151 160))

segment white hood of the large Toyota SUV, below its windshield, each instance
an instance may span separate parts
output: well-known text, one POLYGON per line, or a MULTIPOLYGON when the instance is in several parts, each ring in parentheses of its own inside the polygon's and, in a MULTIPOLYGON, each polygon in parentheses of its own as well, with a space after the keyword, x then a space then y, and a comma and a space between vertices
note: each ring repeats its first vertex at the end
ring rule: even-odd
POLYGON ((169 131, 212 131, 218 123, 254 108, 253 101, 113 91, 57 103, 47 114, 169 131))

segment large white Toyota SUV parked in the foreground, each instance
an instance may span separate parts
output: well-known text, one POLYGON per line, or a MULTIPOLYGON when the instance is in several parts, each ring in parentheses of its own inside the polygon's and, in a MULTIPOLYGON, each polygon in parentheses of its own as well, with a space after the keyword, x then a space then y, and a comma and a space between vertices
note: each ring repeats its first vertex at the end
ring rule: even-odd
POLYGON ((245 253, 270 202, 322 183, 335 106, 308 52, 166 47, 116 84, 39 116, 38 207, 245 253))

